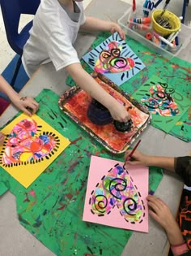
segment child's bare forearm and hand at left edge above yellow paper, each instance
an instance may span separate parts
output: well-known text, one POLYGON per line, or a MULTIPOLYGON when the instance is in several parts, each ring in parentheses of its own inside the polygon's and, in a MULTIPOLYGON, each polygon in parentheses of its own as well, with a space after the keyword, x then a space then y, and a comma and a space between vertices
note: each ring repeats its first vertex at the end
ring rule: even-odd
POLYGON ((5 93, 8 98, 11 99, 11 102, 19 108, 19 110, 25 112, 28 115, 32 115, 36 113, 39 108, 39 104, 31 97, 20 98, 19 94, 15 92, 15 90, 9 85, 6 80, 0 75, 0 91, 5 93), (28 108, 31 111, 28 111, 28 108))

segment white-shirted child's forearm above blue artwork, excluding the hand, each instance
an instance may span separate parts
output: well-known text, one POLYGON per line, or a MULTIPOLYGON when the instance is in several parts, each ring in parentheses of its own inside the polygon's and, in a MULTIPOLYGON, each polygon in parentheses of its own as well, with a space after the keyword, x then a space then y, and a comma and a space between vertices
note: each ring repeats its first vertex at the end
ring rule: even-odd
POLYGON ((110 31, 112 22, 106 20, 96 19, 94 17, 87 17, 86 22, 80 27, 80 30, 85 31, 110 31))

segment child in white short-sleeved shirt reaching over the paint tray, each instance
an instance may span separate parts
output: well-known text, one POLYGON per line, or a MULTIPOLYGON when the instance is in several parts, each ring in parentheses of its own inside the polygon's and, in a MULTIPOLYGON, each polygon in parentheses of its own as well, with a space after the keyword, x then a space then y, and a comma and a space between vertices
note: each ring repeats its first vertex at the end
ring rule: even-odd
POLYGON ((126 122, 130 119, 125 106, 117 102, 85 71, 74 49, 79 28, 87 31, 118 32, 121 28, 110 21, 85 17, 83 0, 41 0, 33 20, 30 37, 23 49, 23 67, 28 76, 41 65, 53 62, 57 71, 66 68, 75 83, 108 108, 113 119, 126 122))

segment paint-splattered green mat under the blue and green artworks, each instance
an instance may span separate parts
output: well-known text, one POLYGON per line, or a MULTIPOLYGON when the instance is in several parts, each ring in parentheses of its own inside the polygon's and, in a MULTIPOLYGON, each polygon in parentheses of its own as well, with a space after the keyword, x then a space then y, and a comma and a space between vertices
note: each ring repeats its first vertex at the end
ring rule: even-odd
MULTIPOLYGON (((109 33, 100 33, 100 36, 91 45, 91 49, 98 46, 108 36, 109 33)), ((191 63, 177 58, 173 58, 171 61, 164 59, 163 56, 155 54, 155 52, 152 52, 145 46, 142 46, 138 41, 134 41, 131 37, 126 37, 126 42, 131 49, 134 50, 134 53, 142 59, 146 68, 141 72, 138 72, 138 74, 128 80, 128 82, 122 84, 120 87, 121 89, 127 93, 133 94, 146 82, 146 80, 155 75, 165 80, 169 85, 172 85, 174 89, 180 91, 185 97, 189 98, 191 102, 191 63)), ((92 72, 91 67, 83 61, 82 64, 87 72, 92 72)), ((68 77, 66 83, 67 85, 74 85, 74 81, 71 80, 70 77, 68 77)), ((180 118, 169 133, 183 141, 191 141, 191 106, 189 111, 180 118)))

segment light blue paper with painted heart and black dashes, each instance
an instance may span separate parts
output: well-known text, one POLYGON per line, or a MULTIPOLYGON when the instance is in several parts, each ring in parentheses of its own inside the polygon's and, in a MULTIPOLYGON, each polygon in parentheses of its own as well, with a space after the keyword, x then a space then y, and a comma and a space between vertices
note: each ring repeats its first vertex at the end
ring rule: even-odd
POLYGON ((142 60, 121 39, 118 33, 113 33, 99 46, 85 54, 83 60, 95 72, 107 76, 118 86, 145 67, 142 60))

